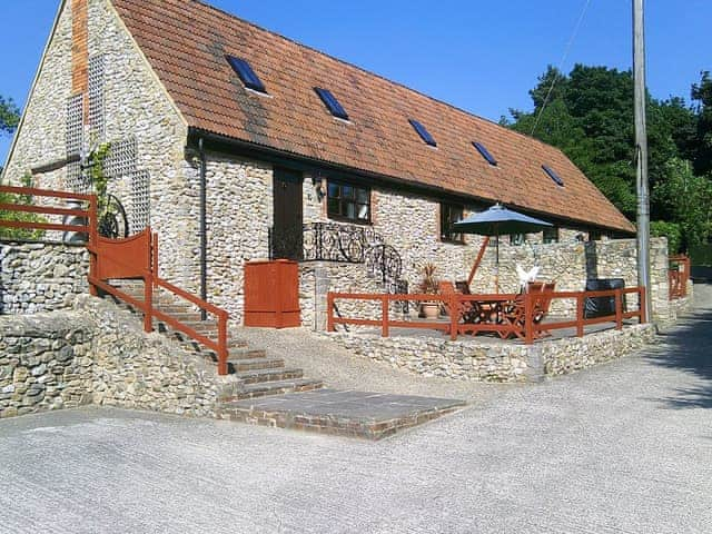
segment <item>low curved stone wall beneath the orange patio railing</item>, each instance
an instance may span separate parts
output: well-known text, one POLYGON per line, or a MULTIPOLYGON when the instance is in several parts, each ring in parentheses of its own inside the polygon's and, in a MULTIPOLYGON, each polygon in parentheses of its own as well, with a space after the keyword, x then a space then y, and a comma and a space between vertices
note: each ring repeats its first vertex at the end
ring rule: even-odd
POLYGON ((380 337, 363 332, 325 336, 359 356, 426 377, 517 383, 627 356, 651 343, 654 332, 652 325, 635 325, 531 346, 476 338, 451 342, 426 336, 380 337))

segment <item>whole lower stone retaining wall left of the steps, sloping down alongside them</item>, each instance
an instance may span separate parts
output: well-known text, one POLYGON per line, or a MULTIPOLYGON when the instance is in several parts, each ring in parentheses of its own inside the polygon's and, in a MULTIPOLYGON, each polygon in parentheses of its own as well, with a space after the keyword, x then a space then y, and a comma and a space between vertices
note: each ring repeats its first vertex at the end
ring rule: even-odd
POLYGON ((240 389, 235 377, 164 337, 129 312, 82 296, 77 307, 0 317, 0 417, 98 404, 216 416, 240 389))

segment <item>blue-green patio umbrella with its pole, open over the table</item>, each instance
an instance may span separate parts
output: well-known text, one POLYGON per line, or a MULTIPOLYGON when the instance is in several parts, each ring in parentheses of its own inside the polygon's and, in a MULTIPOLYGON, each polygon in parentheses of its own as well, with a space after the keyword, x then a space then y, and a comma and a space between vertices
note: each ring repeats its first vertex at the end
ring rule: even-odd
POLYGON ((500 236, 507 234, 526 234, 543 230, 554 225, 545 220, 535 219, 528 215, 520 214, 505 208, 501 204, 492 206, 485 211, 472 214, 469 217, 455 222, 453 230, 458 234, 477 234, 481 236, 494 236, 496 247, 495 286, 500 290, 500 236))

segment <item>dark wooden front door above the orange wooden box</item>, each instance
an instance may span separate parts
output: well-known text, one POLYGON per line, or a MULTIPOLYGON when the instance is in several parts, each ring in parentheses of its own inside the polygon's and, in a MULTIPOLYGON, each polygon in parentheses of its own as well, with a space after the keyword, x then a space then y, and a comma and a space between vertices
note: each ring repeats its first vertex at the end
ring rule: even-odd
POLYGON ((275 220, 271 235, 274 259, 295 259, 297 261, 301 259, 301 172, 275 169, 275 220))

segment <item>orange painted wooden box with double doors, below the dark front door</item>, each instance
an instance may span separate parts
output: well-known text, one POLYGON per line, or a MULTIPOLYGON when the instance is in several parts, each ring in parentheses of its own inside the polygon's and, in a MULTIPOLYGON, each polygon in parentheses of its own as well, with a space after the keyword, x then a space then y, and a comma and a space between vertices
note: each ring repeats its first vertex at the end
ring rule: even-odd
POLYGON ((245 326, 301 326, 296 261, 277 259, 245 264, 245 326))

